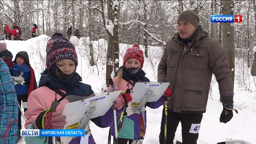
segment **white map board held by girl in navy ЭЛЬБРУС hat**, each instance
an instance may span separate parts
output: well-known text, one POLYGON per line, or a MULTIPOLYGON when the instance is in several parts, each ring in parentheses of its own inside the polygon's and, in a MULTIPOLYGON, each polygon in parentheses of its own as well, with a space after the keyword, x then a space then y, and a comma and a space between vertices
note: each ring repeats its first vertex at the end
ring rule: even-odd
POLYGON ((65 125, 64 129, 67 129, 67 127, 68 129, 78 127, 80 120, 85 116, 85 113, 90 108, 92 101, 97 100, 96 110, 94 111, 92 118, 105 115, 108 109, 111 108, 116 101, 116 98, 120 92, 121 90, 99 95, 96 94, 96 96, 88 99, 67 103, 62 113, 63 116, 67 116, 67 124, 65 125))

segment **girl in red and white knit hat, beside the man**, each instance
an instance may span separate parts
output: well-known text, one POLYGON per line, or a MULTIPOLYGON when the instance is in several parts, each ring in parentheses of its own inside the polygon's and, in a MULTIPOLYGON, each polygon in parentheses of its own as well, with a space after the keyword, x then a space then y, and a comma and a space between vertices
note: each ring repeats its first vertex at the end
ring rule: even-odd
MULTIPOLYGON (((145 77, 145 72, 142 70, 144 63, 143 52, 140 50, 139 45, 133 45, 127 49, 124 54, 123 66, 117 71, 117 76, 114 77, 113 84, 116 90, 126 91, 132 88, 136 82, 149 82, 149 79, 145 77)), ((130 93, 122 94, 124 97, 125 104, 131 101, 130 93)), ((147 102, 146 106, 150 108, 158 108, 164 104, 164 98, 161 97, 156 102, 147 102)), ((120 119, 117 116, 117 127, 119 127, 118 133, 118 144, 129 144, 133 140, 143 141, 146 133, 146 106, 141 110, 140 113, 131 113, 131 103, 127 104, 126 113, 120 119), (122 123, 122 122, 123 123, 122 123)), ((111 135, 114 136, 114 124, 111 125, 111 135)), ((135 143, 135 142, 134 142, 135 143)), ((141 143, 141 142, 137 142, 141 143)))

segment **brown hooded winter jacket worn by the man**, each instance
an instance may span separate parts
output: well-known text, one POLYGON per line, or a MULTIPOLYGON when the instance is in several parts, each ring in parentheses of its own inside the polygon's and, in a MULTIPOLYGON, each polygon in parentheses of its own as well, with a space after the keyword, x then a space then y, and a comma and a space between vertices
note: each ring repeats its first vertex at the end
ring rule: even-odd
POLYGON ((204 113, 212 73, 219 83, 222 103, 233 103, 233 82, 220 43, 199 26, 188 44, 178 33, 168 41, 158 65, 158 82, 170 82, 172 97, 168 109, 179 113, 204 113))

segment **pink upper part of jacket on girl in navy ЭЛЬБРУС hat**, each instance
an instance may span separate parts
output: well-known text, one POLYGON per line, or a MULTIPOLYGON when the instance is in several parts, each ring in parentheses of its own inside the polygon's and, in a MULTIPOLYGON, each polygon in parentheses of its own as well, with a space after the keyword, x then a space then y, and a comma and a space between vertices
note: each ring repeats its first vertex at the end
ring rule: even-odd
MULTIPOLYGON (((66 93, 63 90, 60 90, 63 93, 66 93)), ((36 120, 36 117, 45 109, 50 108, 52 101, 55 100, 55 93, 47 86, 41 86, 38 89, 32 91, 28 97, 28 110, 25 112, 26 123, 25 128, 28 129, 28 126, 36 120)), ((61 96, 56 94, 57 100, 61 98, 61 96)), ((63 109, 65 105, 69 103, 67 99, 63 99, 60 101, 60 104, 56 108, 63 109)))

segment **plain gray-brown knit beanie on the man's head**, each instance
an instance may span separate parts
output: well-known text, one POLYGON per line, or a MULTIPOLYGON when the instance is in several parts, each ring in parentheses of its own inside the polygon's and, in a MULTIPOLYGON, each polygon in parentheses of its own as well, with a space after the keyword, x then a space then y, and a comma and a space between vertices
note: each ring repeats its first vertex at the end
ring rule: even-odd
POLYGON ((198 28, 199 17, 196 12, 187 10, 180 13, 177 22, 178 21, 187 21, 198 28))

